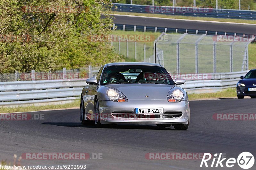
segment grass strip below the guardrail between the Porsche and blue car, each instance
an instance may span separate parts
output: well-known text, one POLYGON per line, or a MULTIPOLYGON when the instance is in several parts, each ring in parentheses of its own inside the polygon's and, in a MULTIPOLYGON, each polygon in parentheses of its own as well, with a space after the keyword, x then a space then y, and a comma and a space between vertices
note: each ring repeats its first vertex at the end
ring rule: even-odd
POLYGON ((191 93, 188 94, 189 100, 196 100, 196 99, 211 99, 211 98, 229 98, 229 97, 236 97, 236 88, 229 88, 227 90, 222 90, 220 92, 215 93, 191 93))

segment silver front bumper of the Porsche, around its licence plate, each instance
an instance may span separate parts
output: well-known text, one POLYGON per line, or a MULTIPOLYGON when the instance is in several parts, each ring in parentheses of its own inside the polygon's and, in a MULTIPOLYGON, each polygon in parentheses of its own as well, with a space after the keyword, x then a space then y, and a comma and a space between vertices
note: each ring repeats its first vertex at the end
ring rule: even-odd
POLYGON ((131 124, 188 124, 189 102, 167 100, 99 101, 100 122, 131 124), (163 114, 135 114, 135 108, 164 108, 163 114))

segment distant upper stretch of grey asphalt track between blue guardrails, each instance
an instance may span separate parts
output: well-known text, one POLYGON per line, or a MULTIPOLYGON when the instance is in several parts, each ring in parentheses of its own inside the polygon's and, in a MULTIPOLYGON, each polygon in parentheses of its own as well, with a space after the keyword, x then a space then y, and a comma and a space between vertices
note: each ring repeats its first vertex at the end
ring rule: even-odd
POLYGON ((140 26, 156 26, 169 28, 197 29, 206 31, 221 31, 231 33, 244 33, 256 35, 256 25, 214 23, 186 20, 168 20, 156 18, 142 18, 132 16, 114 16, 115 24, 128 24, 140 26))

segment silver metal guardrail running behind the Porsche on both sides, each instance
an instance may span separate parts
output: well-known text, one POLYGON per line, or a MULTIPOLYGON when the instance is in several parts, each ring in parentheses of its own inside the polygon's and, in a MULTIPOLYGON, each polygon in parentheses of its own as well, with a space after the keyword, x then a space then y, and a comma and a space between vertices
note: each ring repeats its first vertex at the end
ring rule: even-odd
MULTIPOLYGON (((187 81, 180 86, 189 92, 235 87, 246 72, 210 73, 211 79, 187 81)), ((79 98, 85 85, 85 79, 1 82, 0 106, 72 101, 79 98)))

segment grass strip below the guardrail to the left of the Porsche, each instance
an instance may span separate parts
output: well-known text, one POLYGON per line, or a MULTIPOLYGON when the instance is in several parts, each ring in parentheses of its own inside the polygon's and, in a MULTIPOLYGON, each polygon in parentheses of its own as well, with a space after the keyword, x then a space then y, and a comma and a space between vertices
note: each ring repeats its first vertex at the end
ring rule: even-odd
POLYGON ((18 107, 0 107, 0 113, 15 113, 15 112, 29 112, 39 110, 53 110, 53 109, 67 109, 67 108, 79 108, 80 100, 74 100, 73 102, 60 104, 60 105, 45 105, 45 106, 18 106, 18 107))

